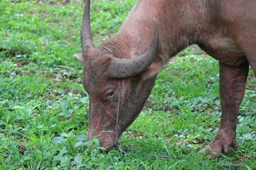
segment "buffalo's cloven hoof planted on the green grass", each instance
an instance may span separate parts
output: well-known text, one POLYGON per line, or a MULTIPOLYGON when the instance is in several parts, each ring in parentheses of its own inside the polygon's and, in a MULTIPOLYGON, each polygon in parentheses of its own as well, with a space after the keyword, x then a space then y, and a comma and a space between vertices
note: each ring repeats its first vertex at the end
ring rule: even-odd
POLYGON ((235 137, 227 137, 218 132, 215 139, 200 152, 209 159, 212 159, 214 157, 221 157, 221 154, 227 154, 230 147, 233 147, 235 150, 238 149, 235 137))

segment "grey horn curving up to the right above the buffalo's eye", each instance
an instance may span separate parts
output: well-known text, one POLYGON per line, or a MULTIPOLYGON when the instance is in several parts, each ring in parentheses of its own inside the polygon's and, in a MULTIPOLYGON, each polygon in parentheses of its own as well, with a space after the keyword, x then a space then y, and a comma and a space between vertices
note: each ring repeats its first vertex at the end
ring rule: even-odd
POLYGON ((149 50, 143 55, 134 59, 118 59, 114 58, 110 64, 110 77, 115 79, 133 77, 146 71, 154 61, 159 44, 156 22, 154 23, 154 33, 151 40, 149 50))

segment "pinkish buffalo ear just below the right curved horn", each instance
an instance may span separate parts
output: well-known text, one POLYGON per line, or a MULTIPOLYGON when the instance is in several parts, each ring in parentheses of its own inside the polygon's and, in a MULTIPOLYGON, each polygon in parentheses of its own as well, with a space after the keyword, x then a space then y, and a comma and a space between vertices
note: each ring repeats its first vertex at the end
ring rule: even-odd
POLYGON ((163 61, 157 57, 156 60, 154 60, 154 62, 149 66, 149 69, 146 69, 146 71, 141 74, 142 80, 144 81, 156 76, 156 74, 158 74, 163 67, 163 61))

